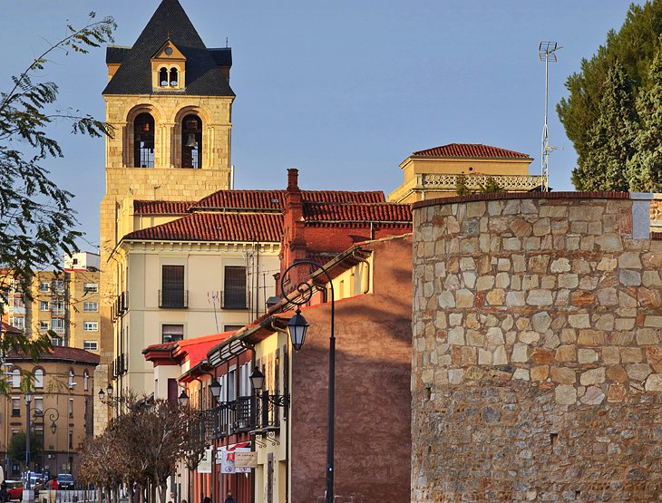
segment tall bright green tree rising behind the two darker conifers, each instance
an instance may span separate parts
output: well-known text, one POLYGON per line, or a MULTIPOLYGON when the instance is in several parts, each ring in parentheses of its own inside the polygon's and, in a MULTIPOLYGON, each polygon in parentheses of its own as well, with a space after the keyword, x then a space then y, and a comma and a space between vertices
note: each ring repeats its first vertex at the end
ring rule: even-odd
POLYGON ((581 72, 566 81, 569 97, 557 105, 560 121, 579 156, 578 163, 592 150, 591 131, 599 118, 599 107, 609 69, 618 61, 632 82, 635 93, 648 90, 652 82, 648 66, 660 48, 662 0, 630 5, 625 23, 618 32, 609 31, 607 41, 589 59, 581 62, 581 72))

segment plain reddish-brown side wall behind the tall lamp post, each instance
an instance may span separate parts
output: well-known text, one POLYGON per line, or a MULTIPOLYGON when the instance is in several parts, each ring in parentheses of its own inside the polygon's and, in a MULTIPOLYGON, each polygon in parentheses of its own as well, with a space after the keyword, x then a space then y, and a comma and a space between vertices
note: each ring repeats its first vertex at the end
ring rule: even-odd
MULTIPOLYGON (((336 495, 409 501, 411 237, 377 242, 375 293, 336 302, 336 495)), ((292 501, 324 494, 330 305, 292 358, 292 501)))

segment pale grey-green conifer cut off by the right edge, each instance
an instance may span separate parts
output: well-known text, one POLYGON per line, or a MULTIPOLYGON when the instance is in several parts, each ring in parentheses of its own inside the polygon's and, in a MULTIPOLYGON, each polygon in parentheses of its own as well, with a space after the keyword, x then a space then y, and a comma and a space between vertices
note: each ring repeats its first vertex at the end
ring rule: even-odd
POLYGON ((652 87, 637 101, 639 129, 627 169, 629 189, 638 192, 662 191, 662 53, 650 65, 649 78, 652 87))

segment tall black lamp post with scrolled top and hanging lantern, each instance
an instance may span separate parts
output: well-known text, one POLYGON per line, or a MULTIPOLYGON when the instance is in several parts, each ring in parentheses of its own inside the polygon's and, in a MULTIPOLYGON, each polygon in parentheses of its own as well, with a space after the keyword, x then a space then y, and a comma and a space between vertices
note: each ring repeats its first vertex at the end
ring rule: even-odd
POLYGON ((328 410, 326 411, 326 490, 325 501, 326 503, 333 503, 334 501, 334 427, 335 427, 335 395, 336 395, 336 334, 335 334, 335 295, 334 284, 331 276, 325 267, 317 264, 313 260, 299 260, 287 267, 280 278, 280 292, 285 297, 287 302, 297 306, 297 312, 287 323, 287 330, 292 339, 292 347, 295 351, 299 351, 306 341, 306 333, 308 330, 308 322, 301 314, 299 306, 307 304, 313 296, 314 286, 307 281, 302 281, 297 284, 293 293, 296 296, 288 296, 285 293, 285 279, 287 273, 293 267, 297 266, 313 266, 320 269, 328 280, 329 287, 331 288, 331 334, 329 336, 329 355, 328 355, 328 410))

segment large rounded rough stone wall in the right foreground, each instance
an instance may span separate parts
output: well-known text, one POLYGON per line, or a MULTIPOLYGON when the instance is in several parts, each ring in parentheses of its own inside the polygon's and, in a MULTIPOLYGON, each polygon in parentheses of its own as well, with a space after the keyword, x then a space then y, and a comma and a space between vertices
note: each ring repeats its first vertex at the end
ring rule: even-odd
POLYGON ((414 205, 412 501, 662 500, 647 199, 414 205))

